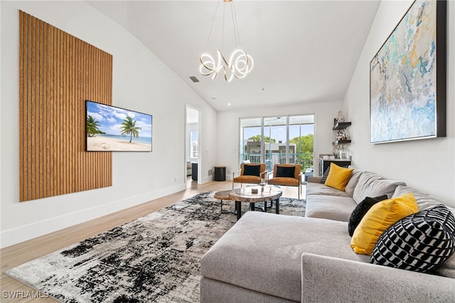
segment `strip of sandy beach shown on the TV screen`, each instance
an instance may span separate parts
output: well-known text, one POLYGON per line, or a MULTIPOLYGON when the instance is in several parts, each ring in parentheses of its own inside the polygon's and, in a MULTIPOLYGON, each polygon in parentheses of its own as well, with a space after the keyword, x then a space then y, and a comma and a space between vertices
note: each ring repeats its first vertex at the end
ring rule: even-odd
POLYGON ((87 137, 88 151, 151 151, 150 144, 129 142, 104 136, 87 137))

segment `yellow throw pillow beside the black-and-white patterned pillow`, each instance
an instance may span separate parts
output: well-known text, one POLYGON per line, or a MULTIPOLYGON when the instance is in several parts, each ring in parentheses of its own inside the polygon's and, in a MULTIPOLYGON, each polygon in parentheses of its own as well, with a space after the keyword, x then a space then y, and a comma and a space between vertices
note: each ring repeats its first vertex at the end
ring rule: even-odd
POLYGON ((417 211, 413 193, 376 203, 355 228, 350 247, 360 255, 371 255, 378 238, 390 225, 417 211))

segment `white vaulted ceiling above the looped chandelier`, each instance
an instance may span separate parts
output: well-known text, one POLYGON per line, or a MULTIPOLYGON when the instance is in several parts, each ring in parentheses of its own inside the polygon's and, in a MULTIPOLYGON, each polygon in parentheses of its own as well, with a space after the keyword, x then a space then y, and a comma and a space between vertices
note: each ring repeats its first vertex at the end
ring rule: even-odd
POLYGON ((255 66, 230 83, 199 73, 201 53, 215 56, 222 41, 226 56, 235 47, 228 8, 222 38, 223 1, 216 16, 217 0, 87 2, 136 36, 215 110, 343 99, 380 1, 234 1, 240 43, 255 66))

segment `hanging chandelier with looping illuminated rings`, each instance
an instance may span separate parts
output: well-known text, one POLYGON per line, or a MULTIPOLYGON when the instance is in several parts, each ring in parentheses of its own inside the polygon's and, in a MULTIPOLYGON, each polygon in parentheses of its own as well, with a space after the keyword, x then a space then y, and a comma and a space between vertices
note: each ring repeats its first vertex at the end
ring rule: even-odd
MULTIPOLYGON (((230 4, 230 11, 231 11, 231 16, 232 16, 232 26, 234 30, 234 37, 235 37, 235 50, 232 51, 230 57, 228 60, 226 60, 226 57, 223 55, 221 52, 221 49, 218 48, 217 51, 217 58, 213 58, 210 53, 203 53, 200 55, 200 68, 199 72, 202 75, 212 75, 212 79, 214 80, 218 73, 223 73, 225 80, 230 82, 232 81, 233 78, 237 79, 242 79, 245 78, 248 73, 251 72, 253 68, 253 59, 251 58, 250 55, 248 55, 245 50, 242 50, 240 48, 240 36, 239 36, 239 30, 237 26, 237 17, 235 16, 235 7, 234 3, 232 0, 220 0, 224 1, 225 4, 223 6, 223 34, 222 34, 222 48, 224 44, 224 31, 225 31, 225 11, 226 11, 226 6, 230 4)), ((218 5, 220 4, 220 1, 218 1, 218 4, 216 6, 215 10, 215 16, 213 17, 213 22, 212 26, 210 28, 210 33, 208 34, 208 39, 207 39, 207 44, 205 46, 205 49, 208 48, 208 42, 210 40, 210 34, 212 33, 213 29, 213 23, 215 22, 215 17, 216 13, 218 11, 218 5)))

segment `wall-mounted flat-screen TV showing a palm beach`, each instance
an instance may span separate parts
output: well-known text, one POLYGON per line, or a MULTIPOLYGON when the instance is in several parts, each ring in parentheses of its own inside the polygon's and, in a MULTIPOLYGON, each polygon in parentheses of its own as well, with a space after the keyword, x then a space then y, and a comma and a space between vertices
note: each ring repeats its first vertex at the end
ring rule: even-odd
POLYGON ((85 101, 87 151, 151 151, 152 116, 85 101))

